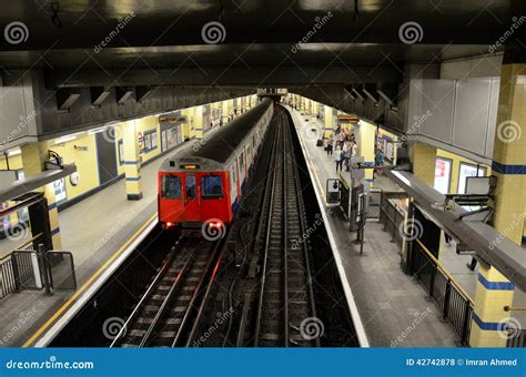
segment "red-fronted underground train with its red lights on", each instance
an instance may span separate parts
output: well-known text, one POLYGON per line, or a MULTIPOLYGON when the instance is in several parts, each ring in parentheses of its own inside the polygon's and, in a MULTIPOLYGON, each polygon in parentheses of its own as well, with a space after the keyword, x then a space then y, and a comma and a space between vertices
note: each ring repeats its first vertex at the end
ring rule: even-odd
POLYGON ((164 228, 219 228, 232 221, 273 112, 273 101, 263 99, 162 163, 158 213, 164 228))

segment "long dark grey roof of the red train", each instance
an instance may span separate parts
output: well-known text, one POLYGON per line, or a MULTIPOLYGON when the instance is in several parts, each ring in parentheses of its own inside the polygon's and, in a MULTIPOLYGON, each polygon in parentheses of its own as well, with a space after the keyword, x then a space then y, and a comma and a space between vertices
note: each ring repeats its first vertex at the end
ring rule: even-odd
POLYGON ((209 131, 201 140, 194 140, 192 147, 184 149, 173 157, 166 159, 161 170, 172 171, 174 167, 179 167, 180 163, 191 163, 192 161, 200 162, 201 169, 204 165, 221 166, 230 159, 232 151, 237 149, 270 106, 272 106, 272 100, 263 99, 261 103, 232 122, 209 131))

